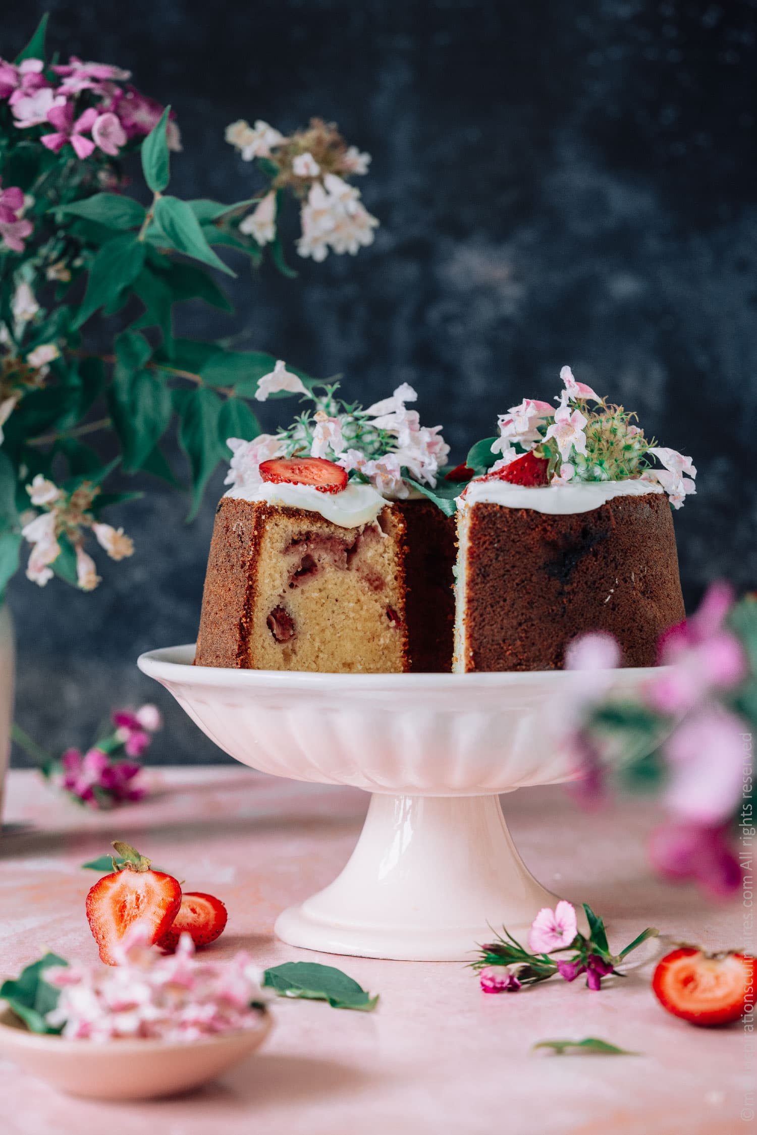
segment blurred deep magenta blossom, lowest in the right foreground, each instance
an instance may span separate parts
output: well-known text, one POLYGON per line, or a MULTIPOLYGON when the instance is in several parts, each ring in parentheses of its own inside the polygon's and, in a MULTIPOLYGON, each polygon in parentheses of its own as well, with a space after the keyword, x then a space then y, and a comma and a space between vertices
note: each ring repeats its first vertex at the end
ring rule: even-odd
POLYGON ((726 827, 674 823, 658 827, 649 854, 656 869, 676 881, 693 880, 714 898, 741 886, 741 867, 726 827))

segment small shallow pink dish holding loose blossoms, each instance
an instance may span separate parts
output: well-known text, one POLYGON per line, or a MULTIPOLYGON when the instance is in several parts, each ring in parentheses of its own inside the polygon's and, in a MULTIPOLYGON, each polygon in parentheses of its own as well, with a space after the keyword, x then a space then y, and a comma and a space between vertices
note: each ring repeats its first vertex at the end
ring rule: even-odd
POLYGON ((258 1028, 200 1041, 118 1040, 106 1043, 30 1033, 10 1010, 0 1012, 0 1054, 60 1092, 92 1100, 150 1100, 188 1092, 251 1056, 271 1031, 258 1028))

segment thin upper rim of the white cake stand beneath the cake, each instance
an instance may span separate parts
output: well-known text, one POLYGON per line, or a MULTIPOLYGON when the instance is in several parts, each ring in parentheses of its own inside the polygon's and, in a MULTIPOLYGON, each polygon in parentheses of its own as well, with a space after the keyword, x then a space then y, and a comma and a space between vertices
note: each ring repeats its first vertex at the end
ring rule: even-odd
MULTIPOLYGON (((486 674, 314 674, 302 670, 233 670, 226 666, 193 665, 195 644, 169 646, 159 650, 148 650, 137 658, 137 666, 150 678, 167 682, 183 682, 190 686, 241 687, 246 689, 305 689, 329 691, 347 690, 417 690, 426 689, 499 689, 502 687, 552 683, 560 688, 563 682, 575 682, 580 671, 529 670, 498 671, 486 674)), ((628 666, 612 671, 614 687, 638 687, 648 678, 659 675, 666 666, 628 666)), ((606 676, 607 672, 603 672, 606 676)), ((597 678, 596 672, 583 671, 588 682, 597 678)))

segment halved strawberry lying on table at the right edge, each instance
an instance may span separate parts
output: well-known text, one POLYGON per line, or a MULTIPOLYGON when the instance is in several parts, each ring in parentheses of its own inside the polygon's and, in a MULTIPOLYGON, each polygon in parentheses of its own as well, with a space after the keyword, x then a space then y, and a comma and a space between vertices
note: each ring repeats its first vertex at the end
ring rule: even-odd
POLYGON ((705 953, 695 945, 679 947, 657 965, 651 987, 674 1017, 692 1025, 727 1025, 747 1011, 755 959, 735 951, 705 953))

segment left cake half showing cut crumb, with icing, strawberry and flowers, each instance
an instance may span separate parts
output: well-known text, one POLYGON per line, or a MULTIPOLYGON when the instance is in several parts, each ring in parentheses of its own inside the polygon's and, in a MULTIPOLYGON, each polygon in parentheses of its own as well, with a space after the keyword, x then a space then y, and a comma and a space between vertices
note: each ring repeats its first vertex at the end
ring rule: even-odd
POLYGON ((454 520, 407 470, 434 480, 446 446, 406 410, 411 396, 347 410, 329 387, 291 430, 229 440, 195 664, 452 669, 454 520))

